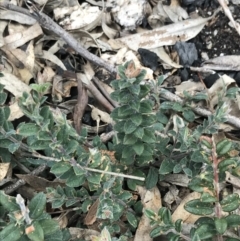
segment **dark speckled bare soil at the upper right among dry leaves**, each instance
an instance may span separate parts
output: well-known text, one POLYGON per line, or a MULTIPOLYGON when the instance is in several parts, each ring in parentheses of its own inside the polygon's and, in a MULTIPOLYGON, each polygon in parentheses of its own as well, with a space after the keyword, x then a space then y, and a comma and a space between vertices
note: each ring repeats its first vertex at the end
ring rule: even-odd
MULTIPOLYGON (((182 7, 188 11, 189 14, 194 11, 199 12, 202 17, 209 17, 219 7, 215 0, 205 1, 182 1, 182 7), (201 2, 201 4, 200 4, 201 2), (188 4, 186 4, 188 3, 188 4)), ((235 21, 240 22, 240 5, 229 4, 229 9, 235 21)), ((225 55, 239 55, 240 54, 240 36, 237 31, 230 25, 230 20, 223 11, 220 11, 202 31, 188 43, 194 43, 198 52, 198 59, 194 61, 193 66, 199 67, 207 60, 225 55)), ((173 47, 173 49, 175 46, 173 47)), ((176 48, 175 48, 176 49, 176 48)), ((162 69, 163 72, 166 72, 162 69)), ((227 74, 234 78, 236 83, 240 86, 240 72, 237 71, 217 71, 219 74, 227 74)), ((176 75, 181 77, 182 81, 192 78, 194 81, 200 81, 199 75, 191 72, 189 68, 179 69, 176 75)), ((218 79, 218 74, 209 75, 202 78, 207 88, 218 79)))

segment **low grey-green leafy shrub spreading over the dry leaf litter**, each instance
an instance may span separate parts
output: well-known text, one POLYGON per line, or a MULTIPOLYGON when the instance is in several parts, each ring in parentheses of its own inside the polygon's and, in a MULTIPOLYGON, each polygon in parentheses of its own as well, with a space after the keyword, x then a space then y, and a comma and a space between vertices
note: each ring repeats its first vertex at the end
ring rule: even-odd
MULTIPOLYGON (((163 101, 163 76, 157 83, 144 81, 144 76, 145 71, 135 69, 132 62, 119 67, 119 79, 111 83, 115 89, 111 97, 119 103, 111 113, 116 136, 108 148, 98 136, 89 148, 85 129, 78 135, 66 116, 45 105, 48 85, 32 85, 31 93, 19 99, 29 122, 14 128, 8 121, 7 95, 0 85, 1 159, 14 165, 11 158, 16 155, 30 170, 42 165, 47 168, 46 175, 50 171, 65 182, 65 186, 46 188, 45 194, 38 193, 26 206, 21 196, 0 192, 1 240, 68 240, 68 229, 61 230, 46 212, 46 202, 53 209, 70 208, 85 216, 96 200, 101 236, 111 240, 111 234, 118 236, 112 240, 128 240, 142 215, 142 204, 131 190, 137 185, 151 189, 169 173, 184 173, 191 179, 189 188, 201 193, 201 198, 188 202, 185 209, 203 217, 188 237, 182 233, 182 221, 174 223, 167 208, 158 213, 145 210, 153 226, 152 237, 165 233, 169 240, 239 240, 227 232, 239 225, 240 216, 233 213, 239 196, 223 197, 219 190, 226 182, 226 171, 239 175, 239 157, 230 155, 239 145, 227 139, 215 143, 211 138, 226 121, 226 105, 220 102, 213 115, 190 129, 188 124, 196 118, 192 104, 207 96, 185 92, 183 103, 163 101), (116 160, 106 154, 110 152, 115 152, 116 160), (127 186, 123 173, 128 177, 127 186), (120 220, 125 220, 124 232, 120 220)), ((236 91, 221 94, 232 98, 236 91)), ((79 221, 76 226, 84 227, 84 223, 79 221)))

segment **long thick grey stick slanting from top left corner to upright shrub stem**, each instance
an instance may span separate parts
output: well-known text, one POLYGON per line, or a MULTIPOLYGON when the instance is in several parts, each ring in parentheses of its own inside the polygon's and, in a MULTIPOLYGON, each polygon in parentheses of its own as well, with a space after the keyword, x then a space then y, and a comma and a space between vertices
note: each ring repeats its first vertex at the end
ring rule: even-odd
POLYGON ((68 32, 66 32, 63 28, 61 28, 57 23, 55 23, 50 17, 42 12, 33 12, 32 14, 21 7, 17 7, 13 4, 9 4, 8 2, 1 2, 1 8, 5 8, 8 10, 16 11, 27 16, 30 16, 38 21, 38 23, 53 33, 57 34, 60 38, 62 38, 70 47, 72 47, 76 52, 78 52, 82 57, 89 60, 93 64, 97 66, 101 66, 108 70, 109 72, 116 74, 117 71, 114 66, 99 58, 98 56, 90 53, 88 50, 82 47, 82 45, 68 32))

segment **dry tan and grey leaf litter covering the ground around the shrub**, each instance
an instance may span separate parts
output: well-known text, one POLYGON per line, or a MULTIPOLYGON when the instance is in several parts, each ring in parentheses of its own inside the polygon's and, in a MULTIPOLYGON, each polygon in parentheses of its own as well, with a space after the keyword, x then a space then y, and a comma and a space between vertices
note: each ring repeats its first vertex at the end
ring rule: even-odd
MULTIPOLYGON (((166 99, 179 100, 184 97, 184 91, 193 95, 208 95, 209 103, 203 101, 201 106, 206 111, 214 111, 218 92, 240 85, 239 46, 236 47, 229 37, 223 35, 232 35, 230 38, 239 43, 240 25, 236 19, 240 12, 239 3, 232 1, 227 6, 225 1, 219 0, 225 17, 217 1, 205 1, 206 5, 196 4, 197 1, 186 3, 187 1, 178 0, 172 0, 170 4, 166 1, 147 0, 87 0, 82 1, 81 5, 78 1, 70 2, 69 6, 62 1, 54 3, 43 0, 36 4, 38 9, 51 14, 49 16, 65 31, 69 31, 86 50, 98 56, 96 59, 89 58, 86 61, 79 56, 76 45, 70 44, 71 40, 68 42, 63 38, 63 41, 63 36, 48 29, 46 25, 41 26, 31 15, 7 9, 0 4, 0 70, 4 75, 0 78, 0 83, 5 85, 9 95, 9 120, 23 117, 17 99, 24 91, 31 91, 31 83, 51 83, 52 87, 49 87, 46 94, 52 102, 51 106, 57 107, 55 117, 60 118, 59 114, 65 113, 70 116, 69 121, 74 123, 78 133, 85 126, 91 135, 102 133, 103 137, 107 134, 107 127, 112 124, 109 114, 117 106, 109 98, 109 93, 113 90, 107 84, 115 79, 116 67, 130 60, 134 60, 136 69, 147 71, 145 81, 156 81, 159 75, 165 76, 168 83, 166 88, 176 90, 175 97, 166 94, 166 99), (226 39, 228 42, 225 42, 226 39), (99 65, 98 59, 103 61, 99 65), (110 67, 104 68, 104 65, 110 67), (174 76, 180 77, 182 82, 172 81, 174 76), (83 85, 80 86, 79 82, 83 85), (84 94, 79 96, 78 93, 84 94)), ((234 117, 240 117, 240 97, 237 98, 238 102, 225 100, 232 118, 229 117, 224 129, 239 130, 239 122, 232 121, 235 120, 234 117)), ((205 112, 198 112, 199 115, 204 115, 203 113, 205 112)), ((238 136, 234 138, 239 141, 238 136)), ((12 167, 0 164, 0 181, 4 183, 12 167)), ((168 175, 160 187, 160 191, 172 190, 172 195, 167 192, 163 198, 164 205, 173 211, 174 220, 181 218, 192 224, 196 217, 190 215, 184 205, 188 200, 198 198, 198 194, 185 193, 181 196, 189 180, 183 176, 182 180, 175 183, 176 175, 178 174, 168 175), (170 188, 169 185, 173 186, 170 188)), ((27 175, 17 177, 31 184, 31 178, 27 175)), ((233 177, 228 174, 227 178, 231 182, 233 177)), ((45 179, 39 180, 47 183, 44 184, 47 186, 56 185, 45 179)), ((42 190, 41 188, 42 184, 38 186, 35 183, 32 192, 42 190)), ((147 206, 157 212, 162 206, 157 186, 151 190, 139 186, 138 194, 143 207, 147 206)), ((86 216, 85 222, 88 225, 96 222, 95 205, 91 206, 86 216)), ((144 218, 146 217, 142 216, 134 240, 148 240, 146 237, 149 236, 150 226, 144 218)), ((96 234, 98 229, 92 227, 92 232, 96 234)), ((92 234, 90 231, 91 229, 89 235, 92 234)), ((88 236, 85 229, 72 229, 73 237, 76 233, 78 238, 88 236)))

